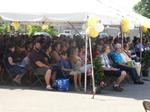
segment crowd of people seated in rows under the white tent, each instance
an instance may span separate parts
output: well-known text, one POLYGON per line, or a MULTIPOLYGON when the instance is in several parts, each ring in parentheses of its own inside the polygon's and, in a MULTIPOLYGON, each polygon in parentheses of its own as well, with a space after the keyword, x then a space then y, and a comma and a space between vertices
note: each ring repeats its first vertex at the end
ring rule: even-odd
MULTIPOLYGON (((122 81, 129 75, 135 84, 144 84, 140 79, 141 63, 135 55, 141 49, 148 49, 148 44, 140 45, 137 40, 124 40, 121 46, 119 37, 106 37, 95 40, 93 44, 93 58, 101 57, 102 68, 107 76, 116 77, 113 89, 123 91, 122 81), (146 46, 146 48, 144 48, 146 46)), ((28 37, 27 35, 13 35, 9 38, 0 36, 0 57, 16 84, 22 83, 22 78, 29 74, 31 67, 44 78, 46 89, 52 90, 58 77, 73 78, 76 91, 83 88, 82 74, 85 71, 85 43, 84 39, 74 37, 54 37, 44 35, 28 37)), ((89 56, 88 56, 89 57, 89 56)), ((1 60, 1 71, 3 63, 1 60)), ((88 60, 87 75, 91 76, 91 63, 88 60)), ((29 79, 28 79, 29 80, 29 79)), ((88 82, 90 83, 90 82, 88 82)))

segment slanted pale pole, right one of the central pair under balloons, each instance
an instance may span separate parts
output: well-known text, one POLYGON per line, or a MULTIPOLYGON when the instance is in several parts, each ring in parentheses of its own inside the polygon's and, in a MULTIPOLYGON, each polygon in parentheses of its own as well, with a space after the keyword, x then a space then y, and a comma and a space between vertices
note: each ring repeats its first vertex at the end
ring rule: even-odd
POLYGON ((93 83, 92 84, 93 85, 93 97, 92 97, 92 99, 94 99, 96 88, 95 88, 94 68, 93 68, 93 57, 92 57, 92 46, 91 46, 91 44, 92 44, 91 38, 89 38, 90 58, 91 58, 91 65, 92 65, 92 83, 93 83))

